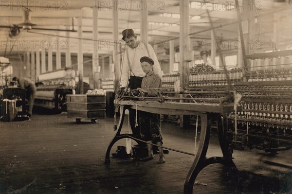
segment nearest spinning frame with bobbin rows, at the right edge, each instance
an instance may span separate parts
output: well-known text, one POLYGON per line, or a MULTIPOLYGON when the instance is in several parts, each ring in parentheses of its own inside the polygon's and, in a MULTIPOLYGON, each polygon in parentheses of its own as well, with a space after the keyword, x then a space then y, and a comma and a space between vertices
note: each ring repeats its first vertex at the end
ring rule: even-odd
POLYGON ((248 81, 234 85, 242 95, 239 102, 242 111, 227 115, 233 144, 237 149, 246 146, 271 153, 291 149, 292 50, 252 54, 246 58, 252 65, 248 81))

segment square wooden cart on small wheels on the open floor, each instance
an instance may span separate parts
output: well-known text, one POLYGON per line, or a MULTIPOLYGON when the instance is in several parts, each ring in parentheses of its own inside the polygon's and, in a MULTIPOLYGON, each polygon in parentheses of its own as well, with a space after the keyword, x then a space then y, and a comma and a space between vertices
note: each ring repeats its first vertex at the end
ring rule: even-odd
POLYGON ((90 119, 91 123, 96 123, 96 119, 105 118, 105 108, 105 95, 67 95, 68 118, 76 118, 77 123, 81 119, 90 119))

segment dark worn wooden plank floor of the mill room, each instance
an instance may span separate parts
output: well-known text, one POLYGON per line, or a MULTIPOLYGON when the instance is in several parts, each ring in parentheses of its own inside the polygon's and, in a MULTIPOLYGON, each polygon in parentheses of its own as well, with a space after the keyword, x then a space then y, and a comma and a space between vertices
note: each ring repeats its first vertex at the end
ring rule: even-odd
MULTIPOLYGON (((164 164, 156 163, 156 155, 146 162, 111 159, 106 165, 112 126, 112 118, 77 124, 66 113, 0 123, 0 194, 183 194, 193 156, 170 151, 164 164)), ((127 117, 124 127, 128 130, 127 117)), ((162 128, 164 146, 194 153, 193 129, 171 123, 162 128)), ((207 156, 221 156, 216 130, 212 133, 207 156)), ((237 175, 219 164, 203 169, 196 181, 206 185, 194 186, 194 194, 292 193, 291 150, 273 157, 235 150, 234 161, 237 175)))

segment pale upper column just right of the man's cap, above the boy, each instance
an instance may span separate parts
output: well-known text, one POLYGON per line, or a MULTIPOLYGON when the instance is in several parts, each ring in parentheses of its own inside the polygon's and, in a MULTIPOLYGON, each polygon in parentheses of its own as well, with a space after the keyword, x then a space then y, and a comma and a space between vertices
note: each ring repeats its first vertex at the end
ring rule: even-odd
POLYGON ((140 0, 141 11, 140 11, 140 29, 141 29, 141 40, 148 43, 148 9, 147 1, 140 0))

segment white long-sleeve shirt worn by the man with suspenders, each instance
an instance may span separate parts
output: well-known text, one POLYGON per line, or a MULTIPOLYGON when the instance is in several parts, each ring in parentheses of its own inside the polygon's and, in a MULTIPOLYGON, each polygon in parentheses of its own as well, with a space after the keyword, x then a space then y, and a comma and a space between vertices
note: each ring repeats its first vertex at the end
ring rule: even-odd
POLYGON ((121 70, 122 71, 121 72, 121 87, 127 87, 130 75, 135 75, 138 77, 145 76, 145 72, 142 70, 141 63, 140 63, 140 58, 143 56, 148 56, 151 59, 153 59, 154 61, 153 71, 154 73, 158 74, 160 78, 162 78, 163 71, 161 71, 161 67, 156 57, 156 54, 152 46, 148 43, 147 43, 147 48, 148 48, 150 56, 148 56, 144 42, 139 42, 138 47, 134 49, 127 46, 122 58, 123 64, 122 64, 122 70, 121 70), (130 61, 130 67, 132 70, 131 72, 129 71, 129 66, 128 66, 127 50, 128 50, 129 61, 130 61))

